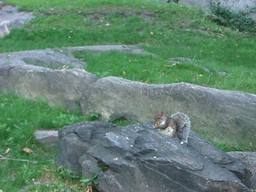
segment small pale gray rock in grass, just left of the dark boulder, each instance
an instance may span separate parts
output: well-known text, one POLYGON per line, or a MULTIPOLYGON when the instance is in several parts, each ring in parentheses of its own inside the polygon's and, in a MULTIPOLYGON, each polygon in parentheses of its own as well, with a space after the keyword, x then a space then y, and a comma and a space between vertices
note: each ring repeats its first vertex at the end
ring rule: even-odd
POLYGON ((34 137, 46 148, 58 148, 57 130, 37 130, 34 132, 34 137))

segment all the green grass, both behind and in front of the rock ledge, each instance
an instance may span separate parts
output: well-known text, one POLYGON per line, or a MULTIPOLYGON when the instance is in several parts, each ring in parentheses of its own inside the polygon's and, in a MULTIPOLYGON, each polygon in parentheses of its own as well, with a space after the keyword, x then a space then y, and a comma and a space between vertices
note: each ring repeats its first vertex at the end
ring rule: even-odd
MULTIPOLYGON (((37 16, 22 29, 0 38, 0 52, 45 49, 60 46, 130 44, 141 46, 158 58, 133 54, 78 54, 88 63, 86 70, 149 83, 191 82, 227 90, 256 93, 256 38, 208 21, 198 10, 157 1, 125 0, 6 0, 37 16), (86 19, 85 19, 86 18, 86 19), (110 26, 106 24, 109 23, 110 26), (219 34, 224 34, 224 37, 219 34), (168 58, 193 58, 194 62, 227 77, 208 74, 194 66, 169 67, 168 58), (166 66, 167 65, 167 66, 166 66)), ((44 102, 30 102, 0 94, 0 154, 26 158, 38 164, 5 161, 0 163, 0 190, 18 191, 35 182, 31 191, 81 190, 78 181, 62 179, 54 172, 56 152, 34 141, 34 130, 88 120, 65 109, 50 108, 44 102), (21 128, 19 130, 15 126, 21 128), (9 154, 5 154, 10 148, 9 154), (26 154, 22 149, 34 151, 26 154), (54 179, 54 181, 52 181, 54 179), (51 184, 53 183, 53 184, 51 184), (48 185, 48 186, 47 186, 48 185)), ((254 146, 231 146, 213 140, 222 150, 255 150, 254 146)))

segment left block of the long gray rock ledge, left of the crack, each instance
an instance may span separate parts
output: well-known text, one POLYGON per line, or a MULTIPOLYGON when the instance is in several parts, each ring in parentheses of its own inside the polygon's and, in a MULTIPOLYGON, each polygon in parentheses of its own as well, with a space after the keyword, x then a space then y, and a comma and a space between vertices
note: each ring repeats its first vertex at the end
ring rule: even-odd
POLYGON ((85 70, 50 70, 41 66, 0 65, 0 88, 4 93, 25 98, 45 98, 54 106, 79 110, 79 101, 88 86, 97 81, 85 70))

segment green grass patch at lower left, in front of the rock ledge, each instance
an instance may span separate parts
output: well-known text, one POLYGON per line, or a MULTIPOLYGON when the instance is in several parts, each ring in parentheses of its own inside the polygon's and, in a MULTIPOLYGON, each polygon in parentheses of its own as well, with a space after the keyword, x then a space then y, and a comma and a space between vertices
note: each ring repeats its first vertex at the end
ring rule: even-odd
MULTIPOLYGON (((57 151, 46 150, 34 140, 34 130, 58 129, 75 122, 90 120, 66 109, 46 106, 45 102, 28 101, 21 97, 0 93, 0 154, 4 157, 26 159, 32 162, 1 161, 0 188, 19 191, 23 186, 41 180, 42 174, 54 175, 57 151), (26 153, 27 147, 33 153, 26 153), (10 152, 6 154, 6 150, 10 152)), ((49 175, 48 175, 49 176, 49 175)), ((47 178, 50 179, 51 178, 47 178)), ((49 182, 48 181, 48 182, 49 182)))

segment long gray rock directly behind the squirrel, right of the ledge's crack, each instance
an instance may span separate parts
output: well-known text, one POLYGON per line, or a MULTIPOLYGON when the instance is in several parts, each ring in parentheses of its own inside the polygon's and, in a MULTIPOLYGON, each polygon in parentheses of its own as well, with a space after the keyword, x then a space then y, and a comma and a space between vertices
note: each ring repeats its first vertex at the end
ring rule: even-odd
POLYGON ((189 83, 149 85, 123 78, 101 78, 90 85, 81 100, 83 114, 98 110, 105 119, 126 118, 145 123, 157 110, 182 111, 192 130, 233 142, 256 145, 256 95, 216 90, 189 83))

